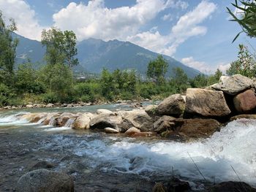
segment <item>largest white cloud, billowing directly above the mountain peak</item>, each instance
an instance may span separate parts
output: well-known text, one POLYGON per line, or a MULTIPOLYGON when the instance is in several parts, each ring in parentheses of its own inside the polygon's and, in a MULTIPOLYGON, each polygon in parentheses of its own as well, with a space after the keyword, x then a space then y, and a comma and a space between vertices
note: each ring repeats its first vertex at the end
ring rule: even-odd
POLYGON ((104 0, 89 1, 88 4, 70 3, 53 15, 56 26, 62 30, 73 30, 78 40, 89 37, 109 40, 126 40, 165 9, 164 0, 137 0, 132 7, 108 9, 104 0))

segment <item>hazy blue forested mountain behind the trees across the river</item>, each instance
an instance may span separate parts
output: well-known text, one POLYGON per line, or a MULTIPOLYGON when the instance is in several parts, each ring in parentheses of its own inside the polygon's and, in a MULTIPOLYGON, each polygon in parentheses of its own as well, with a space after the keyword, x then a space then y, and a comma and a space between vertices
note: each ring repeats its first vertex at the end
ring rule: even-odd
MULTIPOLYGON (((15 34, 19 39, 17 47, 17 63, 23 63, 29 58, 31 62, 37 63, 37 67, 44 64, 45 47, 41 42, 37 42, 15 34)), ((120 42, 111 40, 108 42, 100 39, 86 39, 78 42, 78 60, 80 64, 75 67, 75 71, 100 73, 103 68, 113 71, 115 69, 135 69, 140 74, 146 74, 148 62, 157 58, 158 53, 146 50, 143 47, 131 42, 120 42)), ((180 67, 189 77, 200 74, 199 71, 189 66, 181 64, 167 55, 164 55, 169 64, 167 74, 172 75, 172 69, 180 67)), ((169 76, 169 75, 167 75, 169 76)))

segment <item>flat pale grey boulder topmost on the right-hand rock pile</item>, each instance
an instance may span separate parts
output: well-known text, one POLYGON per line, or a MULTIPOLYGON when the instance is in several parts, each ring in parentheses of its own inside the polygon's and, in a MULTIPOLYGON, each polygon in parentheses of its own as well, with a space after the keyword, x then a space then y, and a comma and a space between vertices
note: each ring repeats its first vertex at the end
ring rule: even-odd
POLYGON ((223 91, 229 95, 236 95, 241 91, 251 88, 253 85, 253 80, 248 77, 244 77, 241 74, 234 74, 231 77, 222 76, 220 82, 211 85, 211 88, 215 90, 223 91))

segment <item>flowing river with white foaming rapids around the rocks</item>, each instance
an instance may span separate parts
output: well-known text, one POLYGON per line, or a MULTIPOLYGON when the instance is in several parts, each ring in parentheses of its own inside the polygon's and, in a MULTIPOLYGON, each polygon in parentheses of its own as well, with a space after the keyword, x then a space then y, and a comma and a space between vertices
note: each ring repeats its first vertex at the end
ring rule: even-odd
MULTIPOLYGON (((18 178, 36 169, 38 162, 72 175, 76 191, 151 191, 155 182, 173 174, 189 181, 195 191, 204 188, 203 177, 211 183, 241 180, 255 186, 256 120, 236 120, 211 138, 181 143, 74 131, 72 120, 53 127, 18 118, 27 112, 97 108, 102 106, 0 112, 0 191, 15 191, 18 178)), ((105 108, 116 110, 120 105, 105 108)))

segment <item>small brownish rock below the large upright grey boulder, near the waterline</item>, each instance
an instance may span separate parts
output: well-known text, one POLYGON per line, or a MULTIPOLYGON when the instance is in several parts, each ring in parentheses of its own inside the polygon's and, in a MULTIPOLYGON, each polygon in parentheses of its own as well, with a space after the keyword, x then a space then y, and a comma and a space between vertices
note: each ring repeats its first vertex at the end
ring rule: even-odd
POLYGON ((173 120, 175 119, 176 118, 166 116, 166 115, 162 116, 156 122, 154 122, 153 131, 160 132, 160 133, 163 131, 167 131, 167 129, 170 129, 173 126, 175 126, 175 123, 173 123, 173 120))

